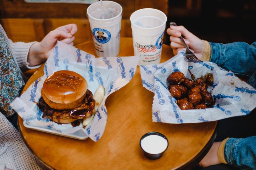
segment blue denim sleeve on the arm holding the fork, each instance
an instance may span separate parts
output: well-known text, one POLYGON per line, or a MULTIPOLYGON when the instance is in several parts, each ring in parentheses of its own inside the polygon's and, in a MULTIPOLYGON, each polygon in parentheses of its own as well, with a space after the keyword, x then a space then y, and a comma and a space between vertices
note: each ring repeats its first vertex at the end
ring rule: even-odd
POLYGON ((236 74, 252 76, 256 68, 256 42, 229 44, 209 43, 211 45, 210 61, 236 74))

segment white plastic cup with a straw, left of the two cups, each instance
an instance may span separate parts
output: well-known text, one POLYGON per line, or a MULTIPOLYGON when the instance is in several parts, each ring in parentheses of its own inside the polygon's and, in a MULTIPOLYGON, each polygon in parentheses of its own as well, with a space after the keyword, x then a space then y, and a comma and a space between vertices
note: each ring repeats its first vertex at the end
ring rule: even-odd
POLYGON ((100 1, 87 8, 95 53, 98 57, 116 57, 120 48, 123 9, 120 4, 113 1, 102 3, 105 11, 102 10, 100 1), (104 16, 106 10, 107 14, 104 16))

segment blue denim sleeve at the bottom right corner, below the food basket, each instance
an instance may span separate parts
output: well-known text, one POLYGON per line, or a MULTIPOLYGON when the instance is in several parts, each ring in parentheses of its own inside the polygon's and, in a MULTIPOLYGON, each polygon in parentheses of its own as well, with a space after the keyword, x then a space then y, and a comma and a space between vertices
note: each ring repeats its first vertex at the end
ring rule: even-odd
POLYGON ((224 156, 229 165, 239 169, 256 169, 256 136, 229 138, 224 147, 224 156))

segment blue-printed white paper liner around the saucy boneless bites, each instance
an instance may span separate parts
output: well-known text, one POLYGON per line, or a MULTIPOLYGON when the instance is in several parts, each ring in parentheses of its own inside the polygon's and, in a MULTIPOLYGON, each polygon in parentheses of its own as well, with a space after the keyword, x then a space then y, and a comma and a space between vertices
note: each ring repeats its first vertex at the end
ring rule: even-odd
POLYGON ((244 81, 239 80, 234 73, 220 68, 212 62, 193 63, 179 53, 168 61, 154 65, 141 65, 142 85, 154 92, 152 105, 153 122, 164 123, 198 123, 216 121, 233 116, 249 114, 256 107, 256 90, 244 81), (208 91, 216 99, 213 108, 181 110, 167 90, 167 77, 173 71, 181 71, 191 78, 188 69, 196 78, 212 73, 213 87, 208 91))

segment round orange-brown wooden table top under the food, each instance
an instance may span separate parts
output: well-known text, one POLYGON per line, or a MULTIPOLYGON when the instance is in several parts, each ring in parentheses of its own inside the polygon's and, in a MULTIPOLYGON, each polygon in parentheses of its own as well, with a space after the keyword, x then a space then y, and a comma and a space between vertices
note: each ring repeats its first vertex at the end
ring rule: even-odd
MULTIPOLYGON (((76 46, 95 55, 93 42, 76 46)), ((121 38, 119 56, 132 56, 132 38, 121 38)), ((161 62, 172 57, 170 46, 163 44, 161 62)), ((28 80, 24 91, 43 75, 40 67, 28 80)), ((43 169, 190 169, 208 152, 216 136, 217 122, 167 124, 152 122, 154 93, 142 87, 140 69, 126 86, 111 94, 106 106, 108 122, 98 142, 61 137, 23 126, 20 135, 26 149, 43 169), (140 149, 140 138, 147 132, 163 133, 169 147, 162 158, 150 160, 140 149)))

